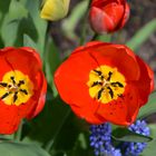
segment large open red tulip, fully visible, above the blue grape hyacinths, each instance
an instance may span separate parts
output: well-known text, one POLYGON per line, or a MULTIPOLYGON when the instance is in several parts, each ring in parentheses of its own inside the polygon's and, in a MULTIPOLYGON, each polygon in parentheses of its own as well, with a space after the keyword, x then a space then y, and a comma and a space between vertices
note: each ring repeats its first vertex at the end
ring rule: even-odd
POLYGON ((91 124, 131 124, 147 103, 153 79, 129 48, 104 42, 76 49, 55 74, 61 98, 91 124))

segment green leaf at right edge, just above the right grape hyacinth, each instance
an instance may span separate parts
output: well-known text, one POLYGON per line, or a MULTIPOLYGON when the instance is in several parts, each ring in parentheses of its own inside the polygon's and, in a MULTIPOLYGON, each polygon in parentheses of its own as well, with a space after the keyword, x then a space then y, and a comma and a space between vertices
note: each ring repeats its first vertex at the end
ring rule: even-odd
POLYGON ((148 115, 156 113, 156 91, 149 96, 148 103, 139 110, 138 118, 145 118, 148 115))

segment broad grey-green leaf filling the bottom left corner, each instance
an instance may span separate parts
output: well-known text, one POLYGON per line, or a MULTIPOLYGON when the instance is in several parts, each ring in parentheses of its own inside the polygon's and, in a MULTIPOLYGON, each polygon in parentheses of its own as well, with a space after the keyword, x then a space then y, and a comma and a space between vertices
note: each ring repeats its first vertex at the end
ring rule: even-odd
POLYGON ((1 142, 0 154, 2 156, 50 156, 46 150, 33 144, 1 142))

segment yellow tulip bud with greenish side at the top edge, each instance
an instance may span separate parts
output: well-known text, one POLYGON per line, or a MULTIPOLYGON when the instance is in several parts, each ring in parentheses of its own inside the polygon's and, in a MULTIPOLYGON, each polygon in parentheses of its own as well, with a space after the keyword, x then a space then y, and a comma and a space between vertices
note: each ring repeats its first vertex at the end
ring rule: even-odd
POLYGON ((59 20, 67 16, 70 0, 45 0, 40 17, 59 20))

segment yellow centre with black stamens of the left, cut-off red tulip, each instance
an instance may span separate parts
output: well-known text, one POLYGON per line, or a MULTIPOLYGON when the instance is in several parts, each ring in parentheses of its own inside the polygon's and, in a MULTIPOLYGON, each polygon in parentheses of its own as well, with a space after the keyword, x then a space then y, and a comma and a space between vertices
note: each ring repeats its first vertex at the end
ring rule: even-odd
POLYGON ((0 99, 6 105, 19 106, 33 95, 33 84, 19 70, 6 72, 0 81, 0 99))

